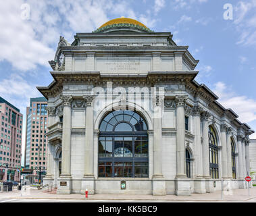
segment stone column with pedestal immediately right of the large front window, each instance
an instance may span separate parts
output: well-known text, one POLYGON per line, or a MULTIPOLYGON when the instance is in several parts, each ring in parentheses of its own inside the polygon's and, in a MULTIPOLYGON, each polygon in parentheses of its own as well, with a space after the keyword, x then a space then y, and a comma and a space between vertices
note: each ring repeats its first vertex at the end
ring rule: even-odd
MULTIPOLYGON (((159 92, 161 94, 161 92, 159 92)), ((165 181, 162 173, 162 116, 163 95, 156 95, 153 99, 153 195, 165 195, 165 181)))

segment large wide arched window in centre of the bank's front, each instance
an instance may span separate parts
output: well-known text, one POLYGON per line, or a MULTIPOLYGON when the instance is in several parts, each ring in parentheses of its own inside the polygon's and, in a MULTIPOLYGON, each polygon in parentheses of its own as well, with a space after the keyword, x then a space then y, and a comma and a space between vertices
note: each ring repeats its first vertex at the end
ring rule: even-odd
POLYGON ((99 126, 99 177, 149 177, 145 119, 129 110, 112 111, 99 126))

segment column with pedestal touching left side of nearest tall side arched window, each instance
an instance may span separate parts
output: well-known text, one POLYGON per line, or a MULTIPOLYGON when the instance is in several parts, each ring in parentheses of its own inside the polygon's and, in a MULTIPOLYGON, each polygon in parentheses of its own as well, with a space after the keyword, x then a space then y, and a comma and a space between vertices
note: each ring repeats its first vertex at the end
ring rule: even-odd
POLYGON ((205 190, 206 192, 213 192, 213 184, 211 184, 211 177, 209 175, 209 124, 208 119, 210 113, 208 111, 202 112, 202 127, 203 127, 203 178, 205 178, 205 190))

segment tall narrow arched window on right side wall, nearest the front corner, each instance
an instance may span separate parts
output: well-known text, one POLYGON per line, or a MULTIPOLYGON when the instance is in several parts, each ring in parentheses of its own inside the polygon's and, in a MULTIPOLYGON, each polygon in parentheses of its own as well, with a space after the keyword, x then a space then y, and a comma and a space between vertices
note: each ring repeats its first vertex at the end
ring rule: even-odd
POLYGON ((217 136, 213 127, 209 126, 209 167, 211 178, 219 178, 219 159, 217 149, 217 136))

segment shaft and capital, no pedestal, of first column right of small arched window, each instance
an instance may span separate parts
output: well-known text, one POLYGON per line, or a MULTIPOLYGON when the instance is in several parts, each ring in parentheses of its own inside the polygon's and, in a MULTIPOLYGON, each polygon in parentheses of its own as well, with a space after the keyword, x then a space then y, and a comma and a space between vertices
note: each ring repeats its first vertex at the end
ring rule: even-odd
POLYGON ((196 105, 193 107, 194 116, 194 134, 195 134, 195 159, 196 159, 196 176, 203 178, 203 161, 202 161, 202 144, 201 144, 201 108, 196 105))

